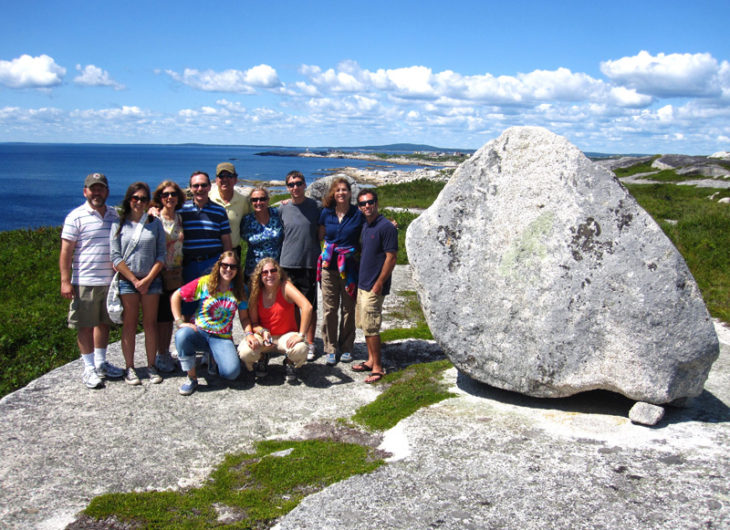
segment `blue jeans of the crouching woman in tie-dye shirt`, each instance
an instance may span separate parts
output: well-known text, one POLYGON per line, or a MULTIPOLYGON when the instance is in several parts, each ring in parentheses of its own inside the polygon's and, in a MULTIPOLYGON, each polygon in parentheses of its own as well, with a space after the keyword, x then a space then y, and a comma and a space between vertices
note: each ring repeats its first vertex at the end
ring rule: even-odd
POLYGON ((186 372, 195 366, 195 352, 200 351, 213 354, 218 365, 218 373, 226 379, 236 379, 241 373, 241 362, 231 339, 222 339, 185 326, 175 333, 175 347, 180 366, 186 372))

